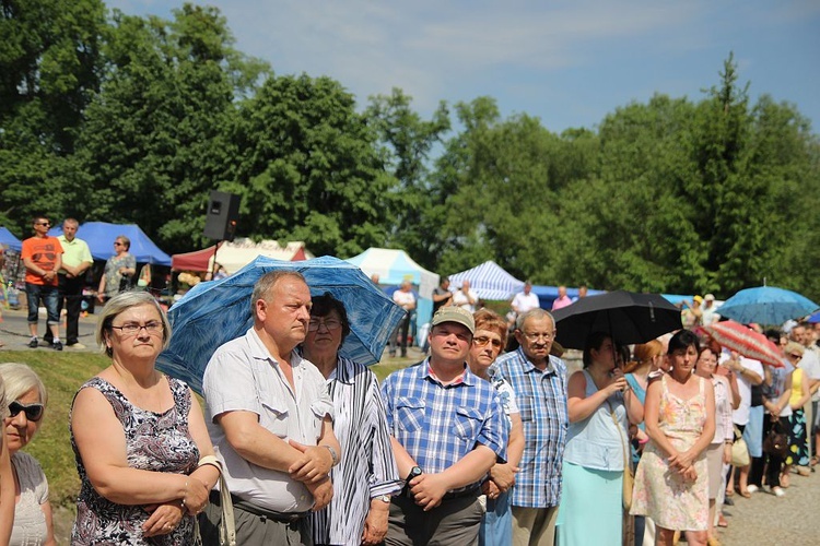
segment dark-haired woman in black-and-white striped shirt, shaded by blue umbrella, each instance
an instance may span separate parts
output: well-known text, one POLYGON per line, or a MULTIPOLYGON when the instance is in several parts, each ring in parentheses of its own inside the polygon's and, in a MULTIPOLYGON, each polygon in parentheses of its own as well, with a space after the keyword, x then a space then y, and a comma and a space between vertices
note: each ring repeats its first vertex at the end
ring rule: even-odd
POLYGON ((327 379, 333 401, 339 464, 330 471, 333 499, 312 514, 316 545, 376 545, 387 534, 390 497, 401 490, 376 376, 339 355, 350 322, 331 294, 313 298, 302 355, 327 379))

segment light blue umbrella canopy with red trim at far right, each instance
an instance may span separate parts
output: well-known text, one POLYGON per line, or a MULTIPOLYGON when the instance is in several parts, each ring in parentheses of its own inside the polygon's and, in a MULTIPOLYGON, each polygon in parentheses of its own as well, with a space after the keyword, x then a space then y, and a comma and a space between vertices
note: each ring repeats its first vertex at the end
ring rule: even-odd
POLYGON ((759 286, 738 292, 717 310, 742 324, 782 324, 789 319, 806 317, 820 306, 796 292, 775 286, 759 286))

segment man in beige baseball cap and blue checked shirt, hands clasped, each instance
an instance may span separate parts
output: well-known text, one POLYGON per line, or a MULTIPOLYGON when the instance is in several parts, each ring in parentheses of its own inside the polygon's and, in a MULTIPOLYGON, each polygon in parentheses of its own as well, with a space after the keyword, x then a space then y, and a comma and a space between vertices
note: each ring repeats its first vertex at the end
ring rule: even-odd
POLYGON ((466 309, 438 309, 427 336, 430 357, 382 385, 407 484, 390 503, 388 546, 478 544, 481 480, 506 460, 509 429, 497 392, 467 367, 475 329, 466 309))

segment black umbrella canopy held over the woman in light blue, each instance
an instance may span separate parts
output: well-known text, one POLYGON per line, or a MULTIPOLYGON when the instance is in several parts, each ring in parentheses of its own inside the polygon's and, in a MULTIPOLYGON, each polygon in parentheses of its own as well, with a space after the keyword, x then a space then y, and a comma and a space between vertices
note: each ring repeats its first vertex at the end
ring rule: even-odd
POLYGON ((564 347, 584 348, 593 332, 608 332, 618 343, 645 343, 679 330, 680 309, 659 294, 616 290, 587 296, 554 311, 557 341, 564 347))

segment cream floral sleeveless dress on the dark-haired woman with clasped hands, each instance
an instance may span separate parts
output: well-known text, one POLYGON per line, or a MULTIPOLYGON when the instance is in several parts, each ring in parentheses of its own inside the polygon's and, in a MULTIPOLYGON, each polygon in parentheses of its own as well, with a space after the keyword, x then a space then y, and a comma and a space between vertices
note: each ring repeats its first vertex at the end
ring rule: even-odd
MULTIPOLYGON (((686 451, 703 432, 706 423, 704 379, 698 378, 698 394, 681 400, 661 379, 663 393, 658 411, 658 427, 675 449, 686 451)), ((686 482, 670 471, 666 453, 649 440, 635 472, 632 496, 633 515, 647 515, 658 526, 676 531, 706 531, 708 527, 708 470, 705 450, 694 461, 698 479, 686 482)))

